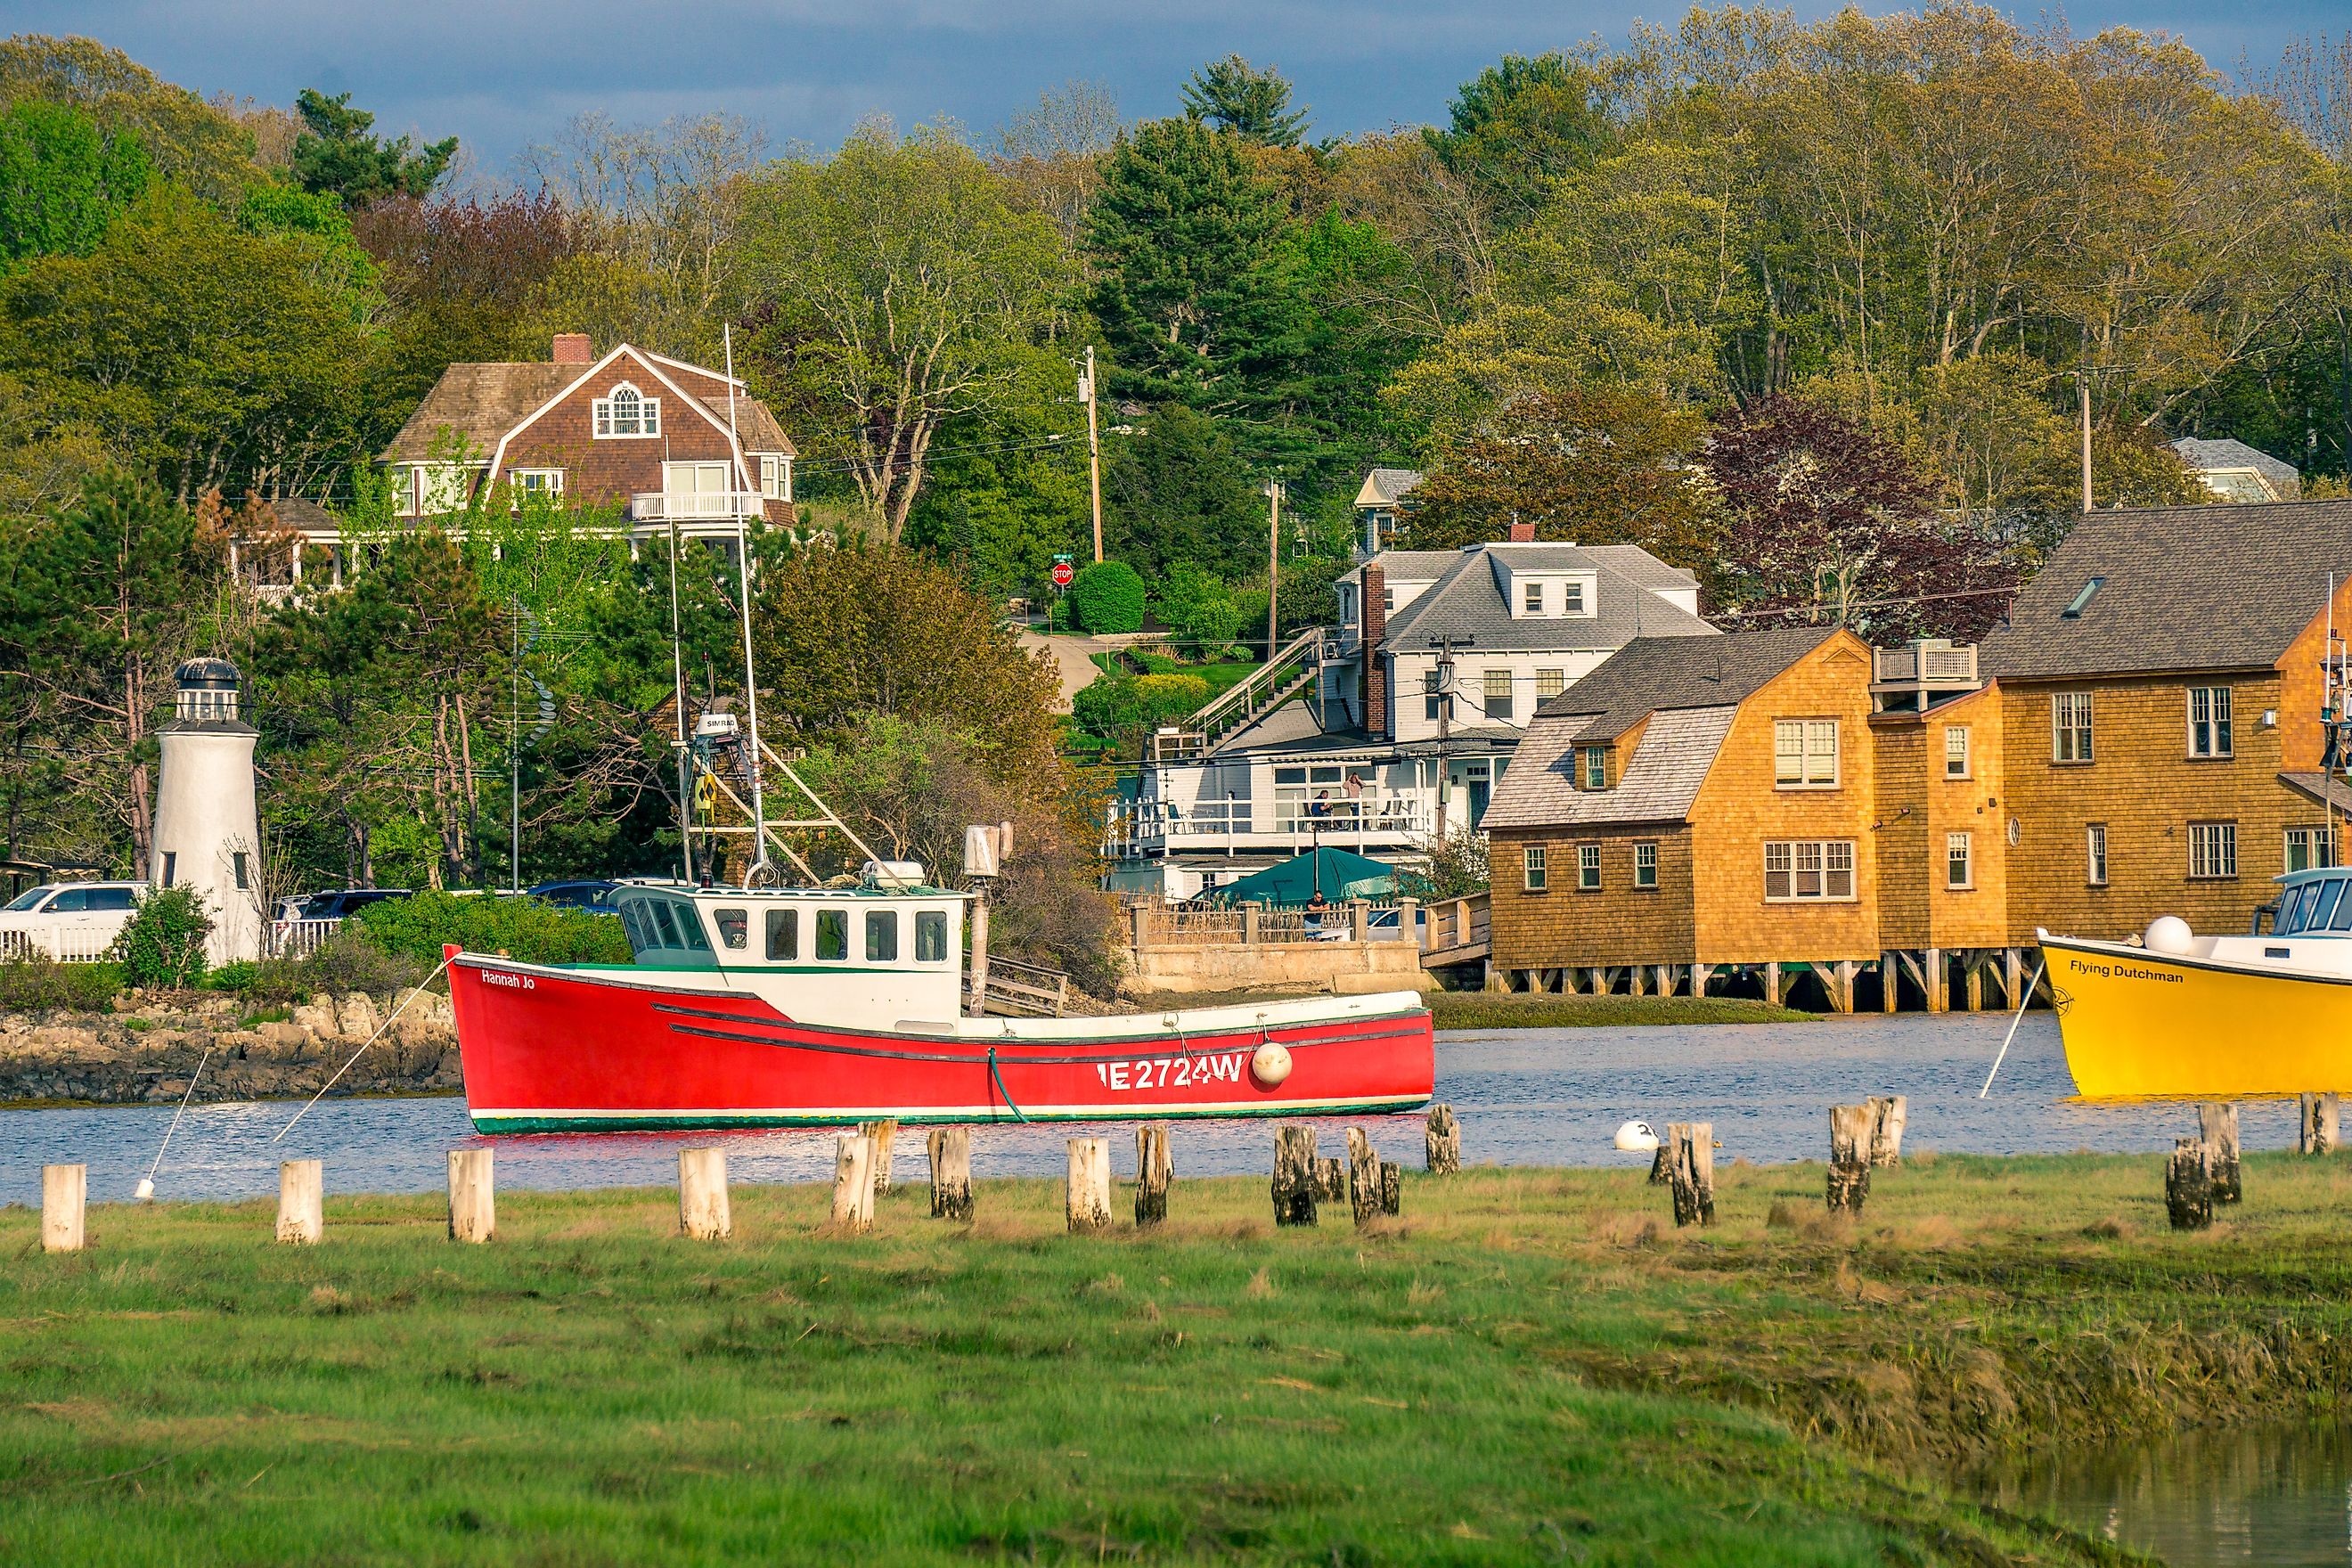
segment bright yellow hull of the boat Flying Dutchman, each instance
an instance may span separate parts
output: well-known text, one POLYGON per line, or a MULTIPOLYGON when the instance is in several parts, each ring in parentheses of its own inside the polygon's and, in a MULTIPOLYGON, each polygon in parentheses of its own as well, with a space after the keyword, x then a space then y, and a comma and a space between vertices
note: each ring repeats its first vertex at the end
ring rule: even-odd
POLYGON ((2352 1088, 2352 976, 2042 936, 2086 1100, 2256 1100, 2352 1088))

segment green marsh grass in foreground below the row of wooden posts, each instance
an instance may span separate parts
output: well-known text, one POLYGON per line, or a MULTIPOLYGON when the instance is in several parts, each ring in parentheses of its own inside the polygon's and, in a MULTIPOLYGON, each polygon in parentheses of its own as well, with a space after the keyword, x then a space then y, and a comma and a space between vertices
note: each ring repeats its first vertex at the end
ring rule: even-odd
POLYGON ((2187 1239, 2154 1157, 1915 1161, 1860 1225, 1729 1166, 1705 1234, 1642 1171, 1277 1234, 1176 1168, 1101 1239, 1018 1180, 861 1239, 741 1187, 729 1244, 668 1192, 503 1194, 482 1248, 437 1199, 308 1251, 96 1208, 71 1258, 0 1211, 0 1561, 2129 1561, 1926 1476, 2352 1389, 2352 1161, 2256 1157, 2187 1239))

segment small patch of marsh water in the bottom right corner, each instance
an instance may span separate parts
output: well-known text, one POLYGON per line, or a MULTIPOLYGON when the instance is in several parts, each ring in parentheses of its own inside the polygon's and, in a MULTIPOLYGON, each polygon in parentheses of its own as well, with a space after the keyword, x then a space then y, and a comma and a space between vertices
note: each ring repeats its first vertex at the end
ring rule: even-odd
POLYGON ((2173 1568, 2352 1563, 2352 1429, 2190 1432, 1978 1476, 1987 1502, 2058 1519, 2173 1568))

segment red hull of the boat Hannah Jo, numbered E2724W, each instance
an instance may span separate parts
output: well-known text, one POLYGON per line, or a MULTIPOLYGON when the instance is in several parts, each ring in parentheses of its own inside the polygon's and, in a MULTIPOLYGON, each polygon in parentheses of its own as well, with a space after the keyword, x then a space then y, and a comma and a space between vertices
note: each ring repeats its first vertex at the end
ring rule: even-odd
POLYGON ((459 954, 449 964, 466 1103, 485 1133, 1296 1117, 1425 1105, 1435 1037, 1418 1004, 1331 999, 1251 1027, 1101 1032, 1009 1020, 856 1030, 795 1023, 746 990, 459 954), (1258 1046, 1291 1072, 1263 1084, 1258 1046))

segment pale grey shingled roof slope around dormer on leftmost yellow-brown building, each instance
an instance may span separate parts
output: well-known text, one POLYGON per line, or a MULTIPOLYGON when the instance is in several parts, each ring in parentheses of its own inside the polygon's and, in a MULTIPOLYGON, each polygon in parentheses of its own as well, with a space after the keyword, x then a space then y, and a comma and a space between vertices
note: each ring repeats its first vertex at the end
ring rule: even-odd
MULTIPOLYGON (((1729 639, 1726 642, 1736 642, 1729 639)), ((1576 827, 1585 823, 1679 823, 1708 783, 1736 705, 1677 708, 1642 731, 1613 790, 1576 788, 1576 715, 1536 719, 1519 741, 1482 827, 1576 827)))

